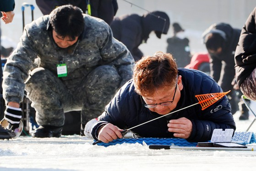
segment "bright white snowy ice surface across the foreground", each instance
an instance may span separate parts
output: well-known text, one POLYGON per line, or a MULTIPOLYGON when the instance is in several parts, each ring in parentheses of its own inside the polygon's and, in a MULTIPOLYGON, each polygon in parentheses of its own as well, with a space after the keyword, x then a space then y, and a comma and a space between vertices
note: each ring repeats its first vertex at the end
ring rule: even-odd
MULTIPOLYGON (((245 131, 254 116, 240 121, 236 131, 245 131)), ((256 123, 249 131, 256 132, 256 123)), ((0 141, 0 171, 240 171, 256 169, 256 151, 151 150, 147 145, 92 145, 79 135, 60 138, 21 136, 0 141)), ((256 144, 249 145, 256 148, 256 144)))

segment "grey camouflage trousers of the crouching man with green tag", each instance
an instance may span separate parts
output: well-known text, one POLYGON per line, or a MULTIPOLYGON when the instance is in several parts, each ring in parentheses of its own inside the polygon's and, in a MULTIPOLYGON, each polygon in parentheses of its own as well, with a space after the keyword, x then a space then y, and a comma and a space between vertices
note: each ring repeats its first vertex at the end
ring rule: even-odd
POLYGON ((82 124, 101 115, 120 83, 116 69, 107 65, 95 68, 79 83, 74 81, 76 85, 69 86, 72 88, 54 73, 38 67, 31 72, 25 90, 39 125, 63 126, 65 112, 81 110, 82 124))

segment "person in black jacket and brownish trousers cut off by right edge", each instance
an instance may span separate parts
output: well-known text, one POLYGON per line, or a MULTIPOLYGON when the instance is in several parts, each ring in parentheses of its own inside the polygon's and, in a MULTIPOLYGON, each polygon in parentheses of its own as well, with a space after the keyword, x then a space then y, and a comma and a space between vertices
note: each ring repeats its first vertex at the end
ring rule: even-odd
POLYGON ((247 18, 242 28, 235 50, 236 80, 241 91, 256 101, 256 8, 247 18))

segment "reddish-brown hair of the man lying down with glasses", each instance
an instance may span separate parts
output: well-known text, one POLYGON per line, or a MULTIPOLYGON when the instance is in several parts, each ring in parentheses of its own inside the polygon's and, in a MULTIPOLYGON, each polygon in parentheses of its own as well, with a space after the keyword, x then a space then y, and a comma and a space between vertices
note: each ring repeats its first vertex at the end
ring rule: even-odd
POLYGON ((156 52, 136 62, 133 73, 135 91, 142 96, 152 95, 159 88, 174 87, 177 76, 178 68, 173 56, 156 52))

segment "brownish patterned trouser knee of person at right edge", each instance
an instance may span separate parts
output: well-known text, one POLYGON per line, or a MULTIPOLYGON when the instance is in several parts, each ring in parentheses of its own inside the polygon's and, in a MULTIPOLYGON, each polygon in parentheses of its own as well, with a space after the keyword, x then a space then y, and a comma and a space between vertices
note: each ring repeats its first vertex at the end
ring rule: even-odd
POLYGON ((256 68, 241 84, 240 89, 246 97, 256 101, 256 68))

